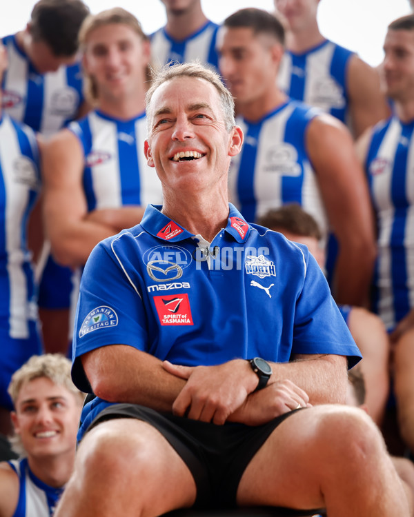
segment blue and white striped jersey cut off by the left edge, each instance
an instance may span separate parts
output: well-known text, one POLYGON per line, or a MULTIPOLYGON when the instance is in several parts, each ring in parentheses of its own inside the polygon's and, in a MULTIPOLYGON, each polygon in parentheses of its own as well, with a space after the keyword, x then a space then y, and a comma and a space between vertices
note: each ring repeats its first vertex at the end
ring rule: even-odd
POLYGON ((32 353, 38 349, 38 338, 32 329, 37 311, 26 225, 39 187, 39 152, 34 133, 3 114, 0 119, 0 341, 6 344, 8 339, 24 339, 28 340, 28 348, 31 341, 32 353))

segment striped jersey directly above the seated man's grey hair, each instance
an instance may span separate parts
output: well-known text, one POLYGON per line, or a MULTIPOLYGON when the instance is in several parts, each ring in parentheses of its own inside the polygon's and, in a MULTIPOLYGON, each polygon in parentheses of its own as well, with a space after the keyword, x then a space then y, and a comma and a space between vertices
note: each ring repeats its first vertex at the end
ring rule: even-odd
POLYGON ((199 59, 203 64, 210 64, 218 72, 218 57, 215 49, 219 26, 208 21, 204 27, 188 38, 175 41, 165 28, 151 35, 151 64, 160 68, 170 61, 186 63, 199 59))

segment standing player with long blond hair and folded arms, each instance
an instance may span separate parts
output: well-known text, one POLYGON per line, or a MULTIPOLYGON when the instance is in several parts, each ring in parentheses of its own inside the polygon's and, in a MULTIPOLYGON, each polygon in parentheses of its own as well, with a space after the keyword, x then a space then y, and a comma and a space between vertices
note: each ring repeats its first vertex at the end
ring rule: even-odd
MULTIPOLYGON (((139 21, 121 8, 91 14, 79 40, 95 109, 53 136, 43 152, 46 230, 57 261, 74 268, 99 241, 141 221, 148 203, 162 201, 144 155, 150 45, 139 21)), ((74 310, 80 275, 77 269, 74 310)))

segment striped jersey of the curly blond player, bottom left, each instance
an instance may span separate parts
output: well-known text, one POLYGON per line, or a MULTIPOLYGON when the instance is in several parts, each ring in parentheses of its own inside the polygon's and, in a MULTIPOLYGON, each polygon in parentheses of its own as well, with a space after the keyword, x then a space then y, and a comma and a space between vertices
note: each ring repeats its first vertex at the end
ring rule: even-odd
POLYGON ((8 464, 19 476, 19 502, 13 517, 51 517, 63 492, 63 487, 53 488, 34 476, 27 458, 10 460, 8 464))

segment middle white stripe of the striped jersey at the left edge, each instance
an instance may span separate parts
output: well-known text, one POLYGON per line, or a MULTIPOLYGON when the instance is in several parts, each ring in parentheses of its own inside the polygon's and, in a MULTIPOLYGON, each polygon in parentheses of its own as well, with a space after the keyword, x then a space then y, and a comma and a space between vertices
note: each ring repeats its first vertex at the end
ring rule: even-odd
POLYGON ((26 276, 21 269, 24 261, 21 250, 21 224, 28 203, 28 187, 13 181, 14 162, 21 156, 19 141, 10 120, 4 119, 0 126, 0 161, 6 190, 6 252, 10 281, 10 337, 28 338, 28 304, 26 276))

